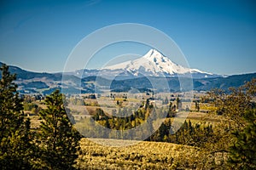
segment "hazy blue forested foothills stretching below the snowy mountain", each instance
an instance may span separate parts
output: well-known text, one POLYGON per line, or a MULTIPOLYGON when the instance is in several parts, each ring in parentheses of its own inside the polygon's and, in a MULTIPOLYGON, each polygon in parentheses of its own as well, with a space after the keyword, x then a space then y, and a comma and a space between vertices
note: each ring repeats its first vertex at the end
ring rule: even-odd
MULTIPOLYGON (((0 62, 0 65, 3 65, 0 62)), ((72 74, 65 73, 65 81, 62 81, 62 73, 38 73, 20 69, 17 66, 9 65, 9 71, 17 74, 15 81, 20 94, 50 94, 56 88, 62 89, 67 94, 93 94, 97 85, 111 84, 111 90, 114 92, 127 92, 131 88, 136 88, 140 92, 148 91, 152 85, 148 77, 131 77, 127 79, 108 80, 103 77, 75 77, 72 74)), ((1 75, 0 75, 1 77, 1 75)), ((227 90, 230 87, 240 87, 244 82, 249 82, 256 78, 256 73, 232 75, 229 77, 207 77, 194 78, 194 89, 198 91, 207 91, 212 88, 222 88, 227 90)), ((171 92, 180 90, 177 77, 151 77, 155 81, 167 81, 171 92), (162 80, 163 79, 163 80, 162 80)))

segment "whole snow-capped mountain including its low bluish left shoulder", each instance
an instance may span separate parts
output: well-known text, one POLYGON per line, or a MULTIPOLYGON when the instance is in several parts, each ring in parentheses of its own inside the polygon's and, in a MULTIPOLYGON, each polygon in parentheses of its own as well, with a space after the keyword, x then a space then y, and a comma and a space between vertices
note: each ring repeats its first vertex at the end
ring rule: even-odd
POLYGON ((194 78, 221 77, 198 69, 189 69, 177 65, 171 59, 160 54, 156 49, 150 49, 147 54, 139 59, 125 61, 116 65, 108 65, 100 70, 77 71, 76 75, 82 77, 186 77, 191 73, 194 78))

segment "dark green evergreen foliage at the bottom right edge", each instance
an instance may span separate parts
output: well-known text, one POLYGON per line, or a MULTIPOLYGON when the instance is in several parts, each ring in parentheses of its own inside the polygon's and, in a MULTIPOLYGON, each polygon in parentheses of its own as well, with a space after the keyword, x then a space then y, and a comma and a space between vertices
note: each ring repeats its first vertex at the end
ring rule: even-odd
POLYGON ((247 126, 235 131, 235 143, 230 146, 230 163, 239 169, 256 169, 256 111, 245 114, 247 126))

